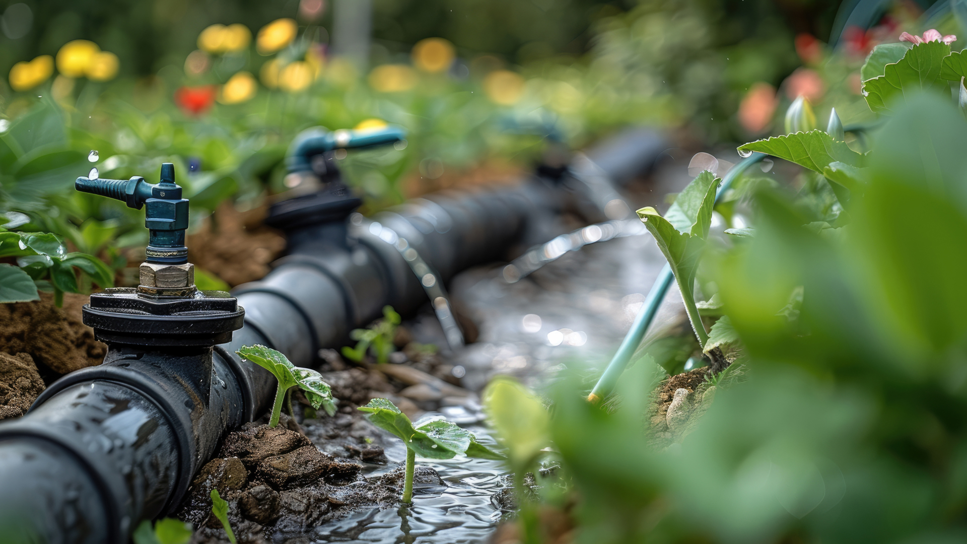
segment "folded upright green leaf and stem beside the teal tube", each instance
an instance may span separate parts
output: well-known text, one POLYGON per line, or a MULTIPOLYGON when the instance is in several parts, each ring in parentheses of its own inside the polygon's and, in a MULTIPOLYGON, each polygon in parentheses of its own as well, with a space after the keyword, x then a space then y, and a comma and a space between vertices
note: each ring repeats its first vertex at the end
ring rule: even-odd
POLYGON ((712 210, 715 207, 719 181, 708 170, 698 174, 685 191, 675 198, 664 218, 655 208, 638 210, 638 217, 648 227, 661 253, 668 259, 689 312, 691 326, 703 346, 708 341, 708 334, 695 307, 695 273, 698 271, 698 260, 705 250, 705 238, 712 224, 712 210))

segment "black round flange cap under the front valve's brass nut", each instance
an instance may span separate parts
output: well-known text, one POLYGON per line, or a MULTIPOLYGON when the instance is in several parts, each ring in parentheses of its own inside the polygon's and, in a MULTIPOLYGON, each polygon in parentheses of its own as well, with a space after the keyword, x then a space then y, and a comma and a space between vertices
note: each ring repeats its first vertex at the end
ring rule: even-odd
POLYGON ((116 287, 92 294, 82 320, 106 343, 211 347, 231 341, 232 331, 245 323, 245 309, 224 291, 154 298, 116 287))

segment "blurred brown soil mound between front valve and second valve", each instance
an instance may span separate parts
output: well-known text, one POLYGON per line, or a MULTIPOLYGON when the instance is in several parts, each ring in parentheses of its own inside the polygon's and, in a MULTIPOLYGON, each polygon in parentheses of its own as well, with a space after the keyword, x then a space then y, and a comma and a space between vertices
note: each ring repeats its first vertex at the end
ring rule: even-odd
POLYGON ((229 286, 260 280, 285 249, 285 238, 262 225, 267 208, 240 212, 228 200, 188 236, 189 261, 229 286))

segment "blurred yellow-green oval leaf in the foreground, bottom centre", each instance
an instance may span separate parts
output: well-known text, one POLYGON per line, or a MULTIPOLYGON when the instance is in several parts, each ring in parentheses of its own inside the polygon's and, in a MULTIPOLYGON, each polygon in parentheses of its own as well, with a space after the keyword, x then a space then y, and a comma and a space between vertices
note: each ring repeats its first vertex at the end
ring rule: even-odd
POLYGON ((511 378, 495 378, 484 390, 484 410, 512 468, 530 468, 550 443, 550 414, 541 400, 511 378))

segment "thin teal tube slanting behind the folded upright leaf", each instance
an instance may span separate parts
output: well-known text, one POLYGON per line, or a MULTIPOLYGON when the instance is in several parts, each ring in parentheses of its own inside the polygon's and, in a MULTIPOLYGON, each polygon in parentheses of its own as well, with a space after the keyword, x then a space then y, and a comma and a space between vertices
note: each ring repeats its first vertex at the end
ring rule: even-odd
MULTIPOLYGON (((718 191, 716 191, 716 203, 718 203, 718 198, 724 195, 732 186, 732 182, 739 177, 739 174, 745 171, 748 166, 752 166, 766 157, 768 155, 764 153, 752 153, 752 155, 743 159, 738 165, 733 166, 725 174, 725 177, 722 178, 722 184, 718 187, 718 191)), ((671 287, 674 279, 675 275, 671 271, 671 266, 666 262, 661 268, 661 272, 659 272, 658 279, 655 280, 651 290, 648 291, 648 296, 645 298, 644 304, 641 305, 641 310, 634 317, 634 322, 631 323, 631 329, 625 335, 625 340, 622 341, 618 351, 611 357, 611 362, 608 363, 601 378, 598 379, 598 383, 595 384, 595 388, 588 395, 588 401, 598 403, 614 389, 618 378, 621 378, 622 373, 628 368, 631 355, 634 354, 638 345, 641 344, 641 339, 644 338, 645 333, 648 332, 648 327, 651 326, 655 315, 658 314, 661 301, 664 299, 664 295, 668 292, 668 287, 671 287)))

